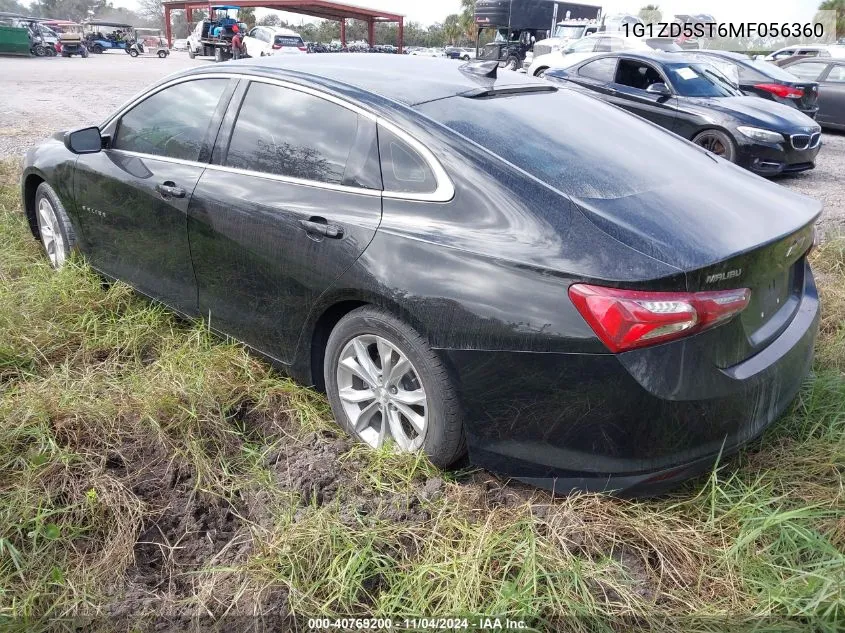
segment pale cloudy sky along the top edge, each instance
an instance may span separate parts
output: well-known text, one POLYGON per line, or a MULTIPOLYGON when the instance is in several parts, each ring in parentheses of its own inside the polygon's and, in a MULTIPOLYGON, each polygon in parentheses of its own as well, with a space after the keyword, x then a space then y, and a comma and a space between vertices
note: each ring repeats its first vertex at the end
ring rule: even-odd
MULTIPOLYGON (((272 1, 272 0, 270 0, 272 1)), ((113 0, 115 6, 137 8, 137 0, 113 0)), ((708 13, 718 22, 783 22, 812 20, 820 0, 585 0, 585 4, 600 5, 605 14, 634 13, 641 6, 657 4, 665 18, 676 13, 708 13)), ((237 0, 233 0, 237 4, 237 0)), ((441 22, 450 13, 460 11, 460 0, 349 0, 349 4, 372 7, 402 13, 408 21, 428 25, 441 22)), ((260 16, 261 9, 257 11, 260 16)), ((291 21, 308 19, 305 16, 290 15, 291 21)))

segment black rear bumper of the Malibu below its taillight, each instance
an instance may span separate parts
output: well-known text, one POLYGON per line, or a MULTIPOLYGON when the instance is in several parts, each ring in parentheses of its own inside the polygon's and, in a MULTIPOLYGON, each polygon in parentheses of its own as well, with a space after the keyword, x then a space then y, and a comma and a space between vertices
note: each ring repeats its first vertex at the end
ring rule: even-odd
POLYGON ((656 494, 706 471, 777 419, 813 358, 819 302, 807 268, 794 318, 721 369, 699 337, 621 355, 443 350, 473 464, 537 486, 656 494))

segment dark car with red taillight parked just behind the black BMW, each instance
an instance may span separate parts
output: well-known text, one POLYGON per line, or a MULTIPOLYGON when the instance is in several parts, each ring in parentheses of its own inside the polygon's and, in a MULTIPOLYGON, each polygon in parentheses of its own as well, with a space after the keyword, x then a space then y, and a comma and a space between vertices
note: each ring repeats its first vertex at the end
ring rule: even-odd
POLYGON ((816 82, 802 81, 774 64, 741 53, 707 50, 683 54, 697 55, 701 61, 712 64, 745 94, 793 106, 811 118, 816 116, 819 109, 816 82))

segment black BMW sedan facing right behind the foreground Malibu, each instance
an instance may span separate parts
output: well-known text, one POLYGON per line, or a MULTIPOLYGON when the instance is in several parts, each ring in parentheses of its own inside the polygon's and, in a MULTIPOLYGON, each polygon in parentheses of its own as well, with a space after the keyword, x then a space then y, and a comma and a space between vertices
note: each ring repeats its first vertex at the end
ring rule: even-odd
POLYGON ((821 128, 795 108, 748 97, 713 66, 675 53, 608 53, 547 71, 751 171, 815 167, 821 128))

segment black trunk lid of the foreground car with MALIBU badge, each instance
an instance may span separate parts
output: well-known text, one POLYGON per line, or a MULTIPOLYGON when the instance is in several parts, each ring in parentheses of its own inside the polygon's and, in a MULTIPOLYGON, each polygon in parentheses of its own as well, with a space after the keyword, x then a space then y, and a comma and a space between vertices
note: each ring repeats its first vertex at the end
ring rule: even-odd
POLYGON ((683 270, 689 291, 751 289, 739 318, 701 335, 713 362, 729 367, 768 345, 794 317, 821 204, 719 162, 724 174, 717 181, 690 176, 577 202, 606 233, 683 270))

